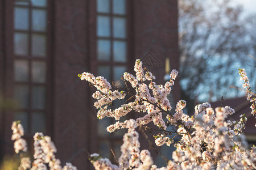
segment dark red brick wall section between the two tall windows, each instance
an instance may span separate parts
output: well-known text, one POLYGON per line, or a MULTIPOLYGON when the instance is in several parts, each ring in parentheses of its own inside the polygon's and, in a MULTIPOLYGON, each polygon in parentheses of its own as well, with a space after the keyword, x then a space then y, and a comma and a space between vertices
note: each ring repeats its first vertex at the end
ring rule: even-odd
POLYGON ((55 1, 54 142, 57 157, 78 169, 88 166, 88 84, 77 74, 88 70, 88 1, 55 1))

